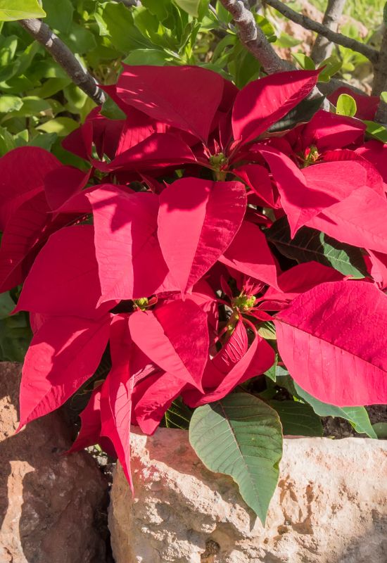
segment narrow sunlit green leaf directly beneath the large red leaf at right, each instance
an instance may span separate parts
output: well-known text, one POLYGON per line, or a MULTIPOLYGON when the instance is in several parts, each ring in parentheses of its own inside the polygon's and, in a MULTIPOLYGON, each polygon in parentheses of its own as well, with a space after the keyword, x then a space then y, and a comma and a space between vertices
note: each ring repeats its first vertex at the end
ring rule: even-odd
POLYGON ((312 397, 309 393, 300 388, 300 386, 296 384, 296 381, 293 381, 293 384, 297 395, 309 403, 319 417, 344 418, 350 422, 355 431, 359 434, 367 434, 369 438, 377 438, 371 422, 369 422, 368 412, 364 407, 335 407, 334 405, 328 405, 312 397))

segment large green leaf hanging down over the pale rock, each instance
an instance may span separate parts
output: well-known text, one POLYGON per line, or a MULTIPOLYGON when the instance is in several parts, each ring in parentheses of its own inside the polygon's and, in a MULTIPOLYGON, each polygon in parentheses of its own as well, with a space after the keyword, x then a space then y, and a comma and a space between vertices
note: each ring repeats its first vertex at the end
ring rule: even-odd
POLYGON ((231 393, 195 410, 189 441, 208 469, 234 479, 265 525, 282 455, 277 412, 249 393, 231 393))

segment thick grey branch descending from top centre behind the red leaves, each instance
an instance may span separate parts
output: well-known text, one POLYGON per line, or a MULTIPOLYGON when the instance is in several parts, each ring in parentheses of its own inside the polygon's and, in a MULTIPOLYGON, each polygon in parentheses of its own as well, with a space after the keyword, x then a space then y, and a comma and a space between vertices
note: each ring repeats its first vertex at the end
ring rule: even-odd
MULTIPOLYGON (((255 23, 253 14, 246 8, 242 0, 220 0, 224 8, 231 13, 236 26, 239 29, 239 37, 246 49, 260 62, 262 68, 268 75, 276 72, 284 72, 293 70, 293 65, 281 59, 274 51, 272 46, 266 39, 265 33, 262 32, 259 25, 255 23)), ((322 96, 321 92, 315 86, 310 92, 308 98, 313 99, 322 96)), ((324 99, 322 109, 328 110, 330 103, 324 99)))

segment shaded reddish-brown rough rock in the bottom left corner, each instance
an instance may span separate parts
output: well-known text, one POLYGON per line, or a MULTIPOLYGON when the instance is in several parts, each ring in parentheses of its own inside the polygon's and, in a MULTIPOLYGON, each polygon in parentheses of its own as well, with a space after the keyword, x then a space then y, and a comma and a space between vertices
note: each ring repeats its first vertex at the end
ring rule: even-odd
POLYGON ((20 366, 0 363, 0 562, 102 563, 101 472, 86 453, 62 455, 71 441, 58 412, 14 434, 19 384, 20 366))

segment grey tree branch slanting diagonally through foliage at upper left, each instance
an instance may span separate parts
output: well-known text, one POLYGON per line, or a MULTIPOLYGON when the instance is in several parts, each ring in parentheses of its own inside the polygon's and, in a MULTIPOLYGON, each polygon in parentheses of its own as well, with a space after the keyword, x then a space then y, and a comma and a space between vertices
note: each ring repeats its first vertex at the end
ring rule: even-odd
POLYGON ((20 20, 19 23, 49 51, 58 65, 61 65, 63 70, 67 72, 72 82, 80 87, 96 104, 100 105, 106 100, 106 96, 95 78, 83 68, 74 53, 50 30, 48 25, 37 19, 20 20))

